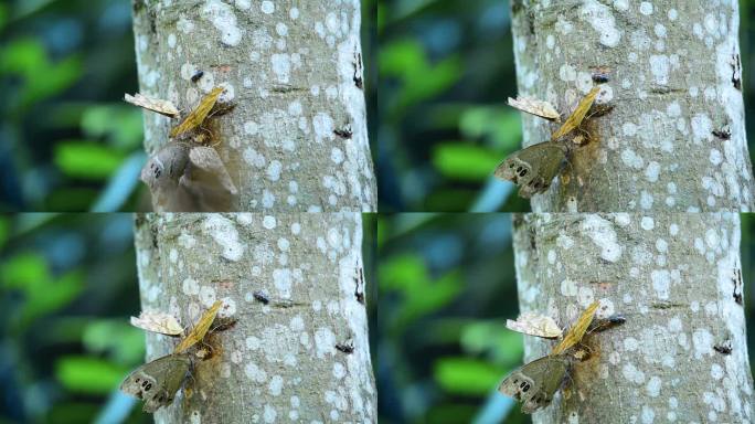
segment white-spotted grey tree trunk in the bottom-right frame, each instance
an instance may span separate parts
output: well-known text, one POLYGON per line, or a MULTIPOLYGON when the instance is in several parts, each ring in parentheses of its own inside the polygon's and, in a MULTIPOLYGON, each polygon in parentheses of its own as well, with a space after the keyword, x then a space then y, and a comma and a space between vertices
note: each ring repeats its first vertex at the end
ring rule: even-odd
MULTIPOLYGON (((738 215, 517 215, 514 250, 522 311, 626 317, 535 423, 753 422, 738 215)), ((551 344, 525 340, 528 361, 551 344)))

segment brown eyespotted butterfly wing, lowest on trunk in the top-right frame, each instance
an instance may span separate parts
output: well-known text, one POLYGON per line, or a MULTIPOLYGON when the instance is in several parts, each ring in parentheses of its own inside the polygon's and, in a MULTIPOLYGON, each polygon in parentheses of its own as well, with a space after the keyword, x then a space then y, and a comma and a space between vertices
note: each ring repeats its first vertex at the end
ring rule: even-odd
POLYGON ((551 187, 565 158, 564 146, 554 141, 540 142, 511 153, 496 168, 495 176, 519 184, 519 195, 529 199, 551 187))

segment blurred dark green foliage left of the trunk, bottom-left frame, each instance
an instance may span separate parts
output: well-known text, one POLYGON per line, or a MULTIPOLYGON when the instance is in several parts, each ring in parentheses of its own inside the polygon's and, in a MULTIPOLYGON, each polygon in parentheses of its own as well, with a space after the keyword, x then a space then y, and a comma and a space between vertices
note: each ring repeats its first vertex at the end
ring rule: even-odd
MULTIPOLYGON (((131 215, 0 215, 0 422, 88 423, 111 406, 145 357, 135 264, 131 215)), ((107 422, 151 422, 132 405, 107 422)))

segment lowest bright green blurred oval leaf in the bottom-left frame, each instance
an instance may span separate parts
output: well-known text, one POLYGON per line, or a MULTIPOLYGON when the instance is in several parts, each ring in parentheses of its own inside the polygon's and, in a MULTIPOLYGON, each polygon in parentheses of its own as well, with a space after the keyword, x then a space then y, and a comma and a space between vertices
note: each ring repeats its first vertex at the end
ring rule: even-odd
POLYGON ((63 357, 55 362, 55 377, 72 392, 106 394, 118 386, 128 370, 88 357, 63 357))

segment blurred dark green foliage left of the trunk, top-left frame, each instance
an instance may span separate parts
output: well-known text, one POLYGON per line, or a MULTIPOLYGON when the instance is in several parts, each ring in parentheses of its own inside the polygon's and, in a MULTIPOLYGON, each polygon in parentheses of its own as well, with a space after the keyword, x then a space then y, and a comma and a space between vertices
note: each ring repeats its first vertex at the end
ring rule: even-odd
POLYGON ((129 0, 0 4, 0 211, 142 210, 129 0))

